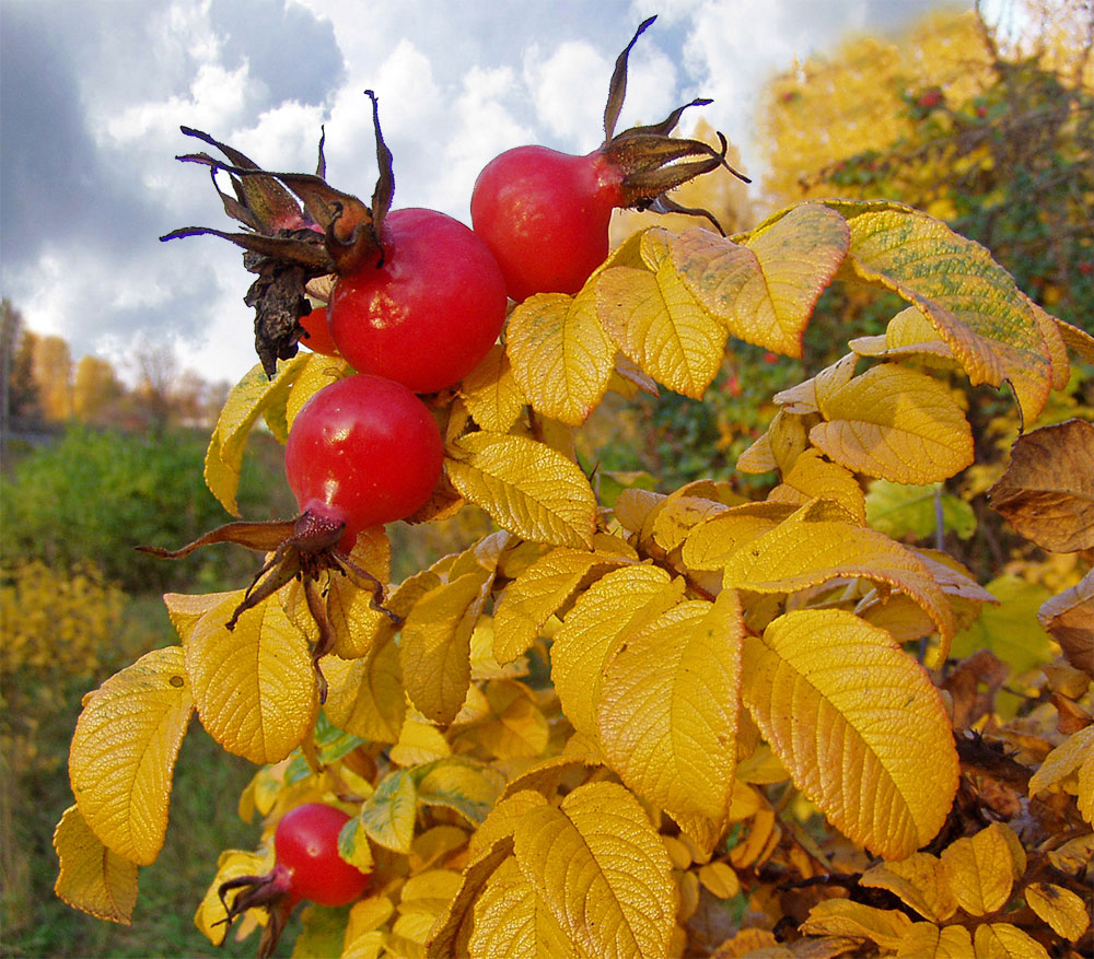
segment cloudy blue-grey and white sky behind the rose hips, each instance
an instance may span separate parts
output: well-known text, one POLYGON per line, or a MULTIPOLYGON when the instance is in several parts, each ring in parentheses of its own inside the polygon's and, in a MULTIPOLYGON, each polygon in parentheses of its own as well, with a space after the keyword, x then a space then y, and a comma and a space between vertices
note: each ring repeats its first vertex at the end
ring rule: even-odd
MULTIPOLYGON (((761 174, 757 94, 795 57, 888 33, 940 0, 0 0, 0 292, 30 329, 125 374, 168 347, 209 381, 256 362, 253 276, 209 236, 233 229, 203 167, 205 130, 267 169, 313 172, 362 198, 376 177, 371 106, 394 154, 395 207, 469 223, 479 169, 523 143, 603 140, 619 50, 617 129, 696 96, 761 174)), ((948 3, 958 8, 968 2, 948 3)), ((226 188, 226 182, 223 183, 226 188)))

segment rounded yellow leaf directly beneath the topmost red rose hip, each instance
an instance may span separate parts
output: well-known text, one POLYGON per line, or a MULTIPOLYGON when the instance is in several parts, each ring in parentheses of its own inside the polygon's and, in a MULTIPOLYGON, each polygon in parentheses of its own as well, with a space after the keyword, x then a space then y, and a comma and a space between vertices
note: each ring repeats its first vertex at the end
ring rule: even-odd
POLYGON ((577 296, 529 296, 509 317, 505 350, 532 408, 580 426, 603 399, 615 369, 615 343, 596 315, 595 284, 577 296))

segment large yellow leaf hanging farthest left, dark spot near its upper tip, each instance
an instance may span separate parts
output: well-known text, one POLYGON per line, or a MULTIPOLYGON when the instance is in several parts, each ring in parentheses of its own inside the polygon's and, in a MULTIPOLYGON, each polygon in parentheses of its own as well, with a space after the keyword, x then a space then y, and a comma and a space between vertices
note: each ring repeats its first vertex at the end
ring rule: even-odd
POLYGON ((80 815, 113 852, 147 866, 167 831, 171 777, 194 713, 182 646, 146 653, 85 701, 69 751, 80 815))

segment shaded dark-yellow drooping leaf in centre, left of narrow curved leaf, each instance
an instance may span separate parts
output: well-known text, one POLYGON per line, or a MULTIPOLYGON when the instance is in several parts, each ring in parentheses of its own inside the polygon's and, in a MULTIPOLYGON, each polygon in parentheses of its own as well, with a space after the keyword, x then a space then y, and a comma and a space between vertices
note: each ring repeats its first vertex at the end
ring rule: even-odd
POLYGON ((451 723, 467 698, 472 630, 491 581, 485 572, 466 573, 437 586, 414 605, 403 624, 403 683, 410 701, 434 723, 451 723))

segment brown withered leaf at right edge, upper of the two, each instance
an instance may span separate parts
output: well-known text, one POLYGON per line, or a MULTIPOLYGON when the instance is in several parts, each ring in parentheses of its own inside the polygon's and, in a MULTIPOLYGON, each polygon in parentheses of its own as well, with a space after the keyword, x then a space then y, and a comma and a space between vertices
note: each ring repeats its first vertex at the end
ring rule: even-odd
POLYGON ((1094 425, 1068 420, 1021 436, 990 490, 991 505, 1054 552, 1094 546, 1094 425))

